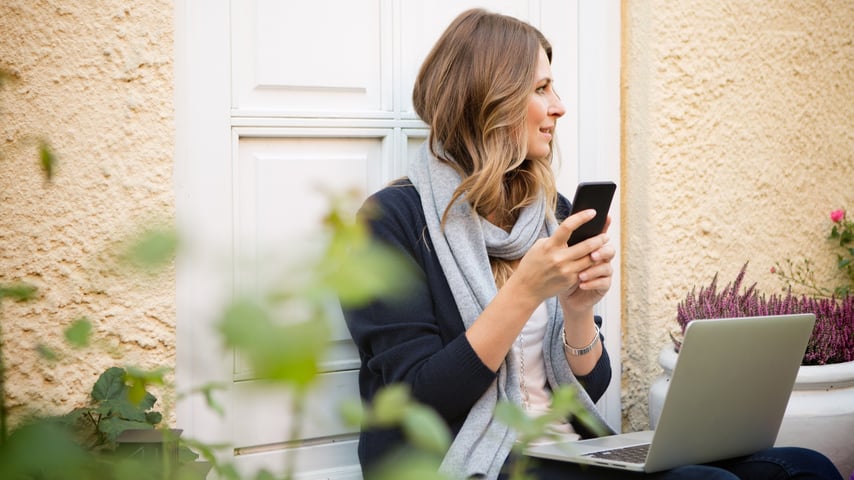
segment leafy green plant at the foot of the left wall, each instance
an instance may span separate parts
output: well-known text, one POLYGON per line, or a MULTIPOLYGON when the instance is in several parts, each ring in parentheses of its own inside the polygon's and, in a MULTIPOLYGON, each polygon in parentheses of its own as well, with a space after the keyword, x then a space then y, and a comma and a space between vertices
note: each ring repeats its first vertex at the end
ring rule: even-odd
POLYGON ((211 465, 158 428, 157 398, 119 367, 104 371, 90 402, 54 417, 35 417, 0 449, 0 473, 13 478, 205 478, 211 465))

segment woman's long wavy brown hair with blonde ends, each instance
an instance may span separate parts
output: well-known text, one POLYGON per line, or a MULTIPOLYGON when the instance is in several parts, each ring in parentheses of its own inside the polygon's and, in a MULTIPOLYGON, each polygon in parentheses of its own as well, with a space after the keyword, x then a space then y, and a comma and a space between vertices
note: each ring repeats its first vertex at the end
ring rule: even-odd
POLYGON ((540 48, 551 62, 551 45, 536 28, 468 10, 427 55, 412 92, 415 111, 430 126, 431 152, 463 179, 451 203, 465 195, 478 214, 503 228, 541 192, 548 212, 557 201, 551 154, 525 158, 527 105, 540 48))

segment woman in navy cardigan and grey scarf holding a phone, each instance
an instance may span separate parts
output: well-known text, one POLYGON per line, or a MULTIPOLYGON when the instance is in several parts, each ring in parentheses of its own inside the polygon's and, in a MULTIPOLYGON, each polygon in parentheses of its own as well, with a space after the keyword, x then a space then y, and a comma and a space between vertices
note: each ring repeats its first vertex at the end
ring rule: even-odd
MULTIPOLYGON (((594 402, 611 370, 593 306, 611 285, 615 250, 607 231, 567 246, 594 212, 567 218, 569 204, 556 191, 552 140, 565 107, 550 63, 551 46, 530 25, 479 9, 462 13, 416 79, 413 105, 430 126, 428 141, 409 178, 362 210, 373 235, 399 250, 420 281, 403 299, 345 312, 362 360, 361 393, 370 401, 403 382, 435 409, 454 435, 441 466, 451 478, 504 475, 515 435, 493 416, 502 400, 537 414, 551 391, 575 385, 605 425, 594 402)), ((575 423, 555 428, 588 435, 575 423)), ((394 429, 363 431, 363 470, 402 443, 394 429)), ((604 476, 562 462, 537 465, 535 478, 604 476)), ((718 472, 681 470, 692 468, 712 474, 680 478, 718 472)))

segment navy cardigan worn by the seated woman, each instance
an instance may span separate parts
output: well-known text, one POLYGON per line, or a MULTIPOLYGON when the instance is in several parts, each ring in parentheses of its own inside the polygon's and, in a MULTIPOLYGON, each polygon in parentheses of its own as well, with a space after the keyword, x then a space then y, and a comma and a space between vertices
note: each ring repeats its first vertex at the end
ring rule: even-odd
MULTIPOLYGON (((560 220, 569 215, 570 204, 562 196, 558 203, 560 220)), ((402 253, 418 272, 404 298, 344 311, 361 357, 361 396, 370 402, 380 388, 405 383, 413 397, 436 410, 455 435, 496 374, 481 362, 463 334, 465 327, 434 252, 418 192, 408 179, 398 180, 372 195, 359 216, 376 239, 402 253)), ((601 324, 600 318, 596 321, 601 324)), ((596 367, 578 380, 597 401, 611 381, 607 351, 603 349, 596 367)), ((576 430, 586 434, 579 425, 576 430)), ((397 429, 363 429, 359 439, 363 469, 403 443, 397 429)))

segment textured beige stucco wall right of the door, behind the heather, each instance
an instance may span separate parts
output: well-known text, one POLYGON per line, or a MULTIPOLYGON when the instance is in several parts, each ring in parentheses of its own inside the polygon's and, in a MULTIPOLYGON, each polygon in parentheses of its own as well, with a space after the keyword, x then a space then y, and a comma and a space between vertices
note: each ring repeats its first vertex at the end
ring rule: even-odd
POLYGON ((645 428, 677 302, 715 272, 777 291, 830 279, 828 214, 854 211, 854 2, 623 2, 625 429, 645 428))

